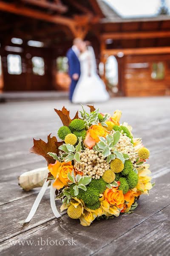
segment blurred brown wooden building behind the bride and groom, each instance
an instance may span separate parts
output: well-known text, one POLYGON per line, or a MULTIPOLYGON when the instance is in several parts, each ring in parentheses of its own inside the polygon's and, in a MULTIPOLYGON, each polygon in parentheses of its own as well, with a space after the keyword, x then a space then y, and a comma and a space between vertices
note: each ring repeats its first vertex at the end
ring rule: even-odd
POLYGON ((66 90, 63 57, 75 37, 91 41, 113 95, 170 94, 170 16, 125 19, 103 0, 0 0, 0 90, 66 90))

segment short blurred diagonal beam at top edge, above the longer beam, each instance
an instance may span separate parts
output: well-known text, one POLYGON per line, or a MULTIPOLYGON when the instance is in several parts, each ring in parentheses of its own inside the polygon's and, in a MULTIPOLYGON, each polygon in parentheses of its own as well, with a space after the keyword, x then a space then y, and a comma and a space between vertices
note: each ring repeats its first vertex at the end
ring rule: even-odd
POLYGON ((29 3, 31 5, 39 6, 42 8, 51 9, 60 13, 67 12, 67 6, 62 5, 62 3, 50 3, 46 0, 22 0, 24 3, 29 3))

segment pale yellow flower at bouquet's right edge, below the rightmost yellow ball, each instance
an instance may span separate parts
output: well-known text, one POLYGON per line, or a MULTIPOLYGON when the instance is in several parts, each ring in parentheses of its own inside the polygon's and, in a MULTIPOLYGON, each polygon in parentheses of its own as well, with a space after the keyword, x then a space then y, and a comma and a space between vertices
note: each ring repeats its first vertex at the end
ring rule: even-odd
POLYGON ((138 191, 141 191, 142 194, 149 195, 148 191, 152 189, 152 184, 150 182, 151 177, 147 176, 151 174, 149 170, 149 164, 144 164, 142 167, 136 168, 136 169, 138 171, 138 177, 139 177, 136 189, 138 191))

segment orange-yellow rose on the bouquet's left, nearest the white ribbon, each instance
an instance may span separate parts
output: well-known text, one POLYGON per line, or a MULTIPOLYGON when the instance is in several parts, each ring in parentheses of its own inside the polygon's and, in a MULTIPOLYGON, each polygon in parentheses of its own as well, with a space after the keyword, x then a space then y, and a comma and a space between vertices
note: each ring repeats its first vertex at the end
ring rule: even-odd
POLYGON ((68 163, 56 161, 54 164, 51 163, 48 165, 48 170, 55 178, 54 188, 62 189, 70 181, 67 175, 68 172, 72 172, 73 166, 71 165, 71 161, 68 163))

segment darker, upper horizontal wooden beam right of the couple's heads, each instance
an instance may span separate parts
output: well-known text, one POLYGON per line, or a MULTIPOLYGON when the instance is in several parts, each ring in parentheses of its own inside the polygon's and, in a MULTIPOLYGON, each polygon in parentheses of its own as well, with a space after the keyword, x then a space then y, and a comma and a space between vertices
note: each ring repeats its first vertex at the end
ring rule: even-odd
POLYGON ((141 31, 141 32, 114 32, 104 33, 101 35, 102 40, 111 38, 113 40, 119 39, 145 39, 145 38, 167 38, 170 37, 170 31, 141 31))

